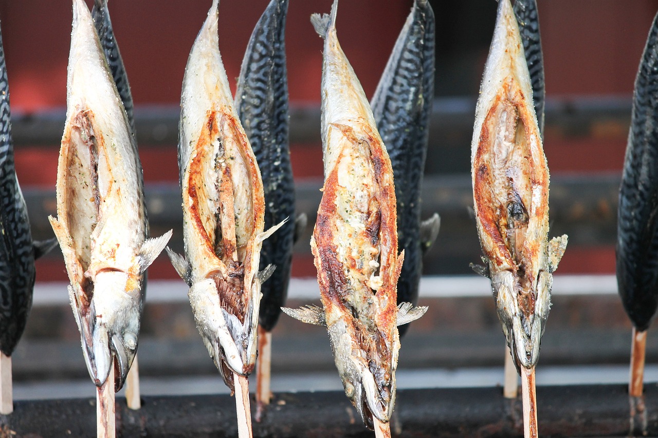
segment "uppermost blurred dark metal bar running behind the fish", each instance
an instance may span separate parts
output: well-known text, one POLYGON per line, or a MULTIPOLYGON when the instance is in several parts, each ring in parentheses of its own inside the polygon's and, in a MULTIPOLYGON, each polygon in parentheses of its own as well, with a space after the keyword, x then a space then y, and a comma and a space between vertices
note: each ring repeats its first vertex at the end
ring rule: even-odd
MULTIPOLYGON (((628 130, 631 97, 554 97, 546 99, 547 130, 559 130, 563 135, 592 135, 600 132, 601 124, 619 125, 628 130)), ((472 131, 475 114, 473 97, 442 97, 434 99, 430 120, 430 145, 445 143, 449 132, 472 131)), ((135 122, 137 139, 144 145, 176 145, 180 107, 137 106, 135 122)), ((53 109, 42 112, 12 114, 12 132, 16 145, 58 145, 64 130, 66 111, 53 109)), ((612 131, 618 131, 615 128, 612 131)), ((611 132, 610 129, 605 132, 611 132)), ((292 103, 290 108, 290 141, 320 142, 320 106, 316 103, 292 103)))

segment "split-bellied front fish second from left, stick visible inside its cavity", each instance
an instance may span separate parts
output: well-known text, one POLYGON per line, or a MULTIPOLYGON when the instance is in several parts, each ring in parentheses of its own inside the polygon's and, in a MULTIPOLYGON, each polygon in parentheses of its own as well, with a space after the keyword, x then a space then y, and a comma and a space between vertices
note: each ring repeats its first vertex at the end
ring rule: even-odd
POLYGON ((263 183, 219 53, 214 0, 183 79, 178 165, 187 260, 167 249, 190 285, 201 338, 224 382, 248 376, 256 360, 261 283, 263 183))

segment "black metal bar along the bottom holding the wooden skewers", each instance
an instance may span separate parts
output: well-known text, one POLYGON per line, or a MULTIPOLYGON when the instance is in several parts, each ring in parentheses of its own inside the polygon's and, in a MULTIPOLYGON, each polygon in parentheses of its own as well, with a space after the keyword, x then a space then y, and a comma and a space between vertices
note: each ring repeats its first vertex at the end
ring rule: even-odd
MULTIPOLYGON (((624 385, 540 386, 537 404, 542 436, 626 437, 631 430, 624 385)), ((644 409, 644 430, 635 431, 657 436, 655 384, 645 387, 644 409)), ((237 437, 235 412, 234 399, 228 395, 143 397, 140 410, 128 409, 120 398, 116 431, 124 437, 237 437)), ((417 438, 522 437, 522 418, 520 400, 505 399, 499 387, 413 389, 398 392, 392 426, 401 436, 417 438)), ((638 420, 636 426, 642 424, 638 420)), ((14 413, 0 421, 5 430, 22 437, 89 437, 95 434, 95 400, 19 401, 14 413)), ((342 391, 336 391, 276 394, 263 422, 253 423, 253 435, 372 437, 372 432, 342 391)))

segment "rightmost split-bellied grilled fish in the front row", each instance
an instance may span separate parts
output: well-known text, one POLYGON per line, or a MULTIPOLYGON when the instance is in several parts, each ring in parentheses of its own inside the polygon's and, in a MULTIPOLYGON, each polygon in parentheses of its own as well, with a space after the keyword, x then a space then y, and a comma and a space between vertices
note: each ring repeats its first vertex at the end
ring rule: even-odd
POLYGON ((550 242, 549 173, 530 75, 509 0, 498 6, 472 139, 476 223, 498 316, 517 370, 537 362, 552 273, 567 236, 550 242))

